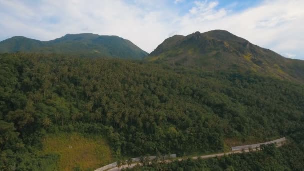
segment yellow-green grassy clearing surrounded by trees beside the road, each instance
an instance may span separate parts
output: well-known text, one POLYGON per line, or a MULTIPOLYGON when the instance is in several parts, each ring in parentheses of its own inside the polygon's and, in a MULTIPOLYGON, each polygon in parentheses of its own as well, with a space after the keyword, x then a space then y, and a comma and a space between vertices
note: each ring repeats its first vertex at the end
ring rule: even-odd
POLYGON ((43 139, 43 153, 60 155, 59 169, 95 169, 111 163, 109 145, 101 136, 84 137, 78 133, 59 133, 43 139))

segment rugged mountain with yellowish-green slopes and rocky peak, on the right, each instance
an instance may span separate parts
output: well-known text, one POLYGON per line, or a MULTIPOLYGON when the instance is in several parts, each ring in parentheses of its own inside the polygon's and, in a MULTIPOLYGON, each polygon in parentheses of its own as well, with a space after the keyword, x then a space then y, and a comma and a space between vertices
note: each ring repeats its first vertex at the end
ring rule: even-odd
POLYGON ((285 58, 224 30, 166 39, 146 60, 205 70, 252 71, 304 82, 304 61, 285 58))

